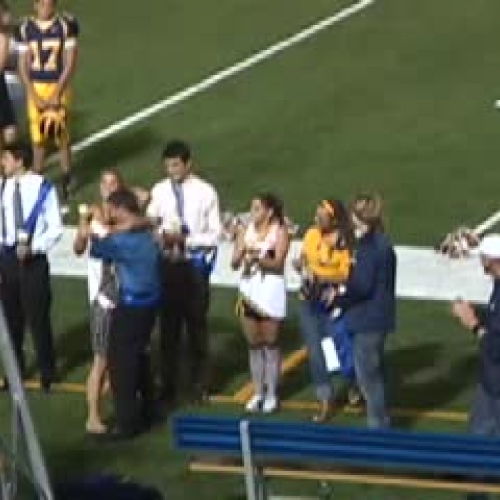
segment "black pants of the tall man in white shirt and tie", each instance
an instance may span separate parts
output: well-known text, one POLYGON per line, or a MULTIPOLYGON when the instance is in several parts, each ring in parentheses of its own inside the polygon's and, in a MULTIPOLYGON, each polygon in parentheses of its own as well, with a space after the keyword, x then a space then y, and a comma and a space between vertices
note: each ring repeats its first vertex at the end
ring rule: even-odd
POLYGON ((180 344, 188 337, 188 368, 195 395, 209 384, 209 278, 190 262, 163 263, 163 304, 160 315, 162 394, 174 399, 179 378, 180 344))

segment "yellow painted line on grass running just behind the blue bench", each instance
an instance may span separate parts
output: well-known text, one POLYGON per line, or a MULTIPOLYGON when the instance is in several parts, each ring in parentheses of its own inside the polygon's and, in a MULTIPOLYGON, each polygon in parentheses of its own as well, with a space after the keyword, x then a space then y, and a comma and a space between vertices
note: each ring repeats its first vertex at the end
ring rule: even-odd
MULTIPOLYGON (((240 402, 234 400, 233 396, 211 396, 210 401, 217 404, 239 405, 240 402)), ((281 407, 290 411, 314 412, 319 410, 319 403, 315 401, 283 401, 281 407)), ((345 415, 364 415, 365 410, 361 407, 344 406, 337 409, 338 413, 345 415)), ((416 418, 419 420, 435 420, 443 422, 467 422, 468 415, 459 411, 428 411, 418 408, 391 408, 390 414, 393 417, 416 418)))

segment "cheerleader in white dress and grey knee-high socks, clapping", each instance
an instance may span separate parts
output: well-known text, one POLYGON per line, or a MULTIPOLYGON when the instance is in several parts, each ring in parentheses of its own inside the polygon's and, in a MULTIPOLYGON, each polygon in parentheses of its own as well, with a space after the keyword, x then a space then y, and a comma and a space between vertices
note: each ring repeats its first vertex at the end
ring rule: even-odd
POLYGON ((236 240, 231 265, 242 269, 238 313, 248 340, 254 395, 247 411, 271 413, 279 406, 278 336, 286 316, 285 260, 289 234, 283 204, 272 194, 252 201, 250 222, 236 240))

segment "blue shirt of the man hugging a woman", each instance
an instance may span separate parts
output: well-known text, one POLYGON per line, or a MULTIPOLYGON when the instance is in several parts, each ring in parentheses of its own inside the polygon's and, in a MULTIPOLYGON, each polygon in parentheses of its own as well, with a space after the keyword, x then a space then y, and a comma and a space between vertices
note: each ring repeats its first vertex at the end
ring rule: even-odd
POLYGON ((94 238, 90 255, 115 264, 120 304, 137 307, 158 304, 161 297, 160 250, 150 231, 94 238))

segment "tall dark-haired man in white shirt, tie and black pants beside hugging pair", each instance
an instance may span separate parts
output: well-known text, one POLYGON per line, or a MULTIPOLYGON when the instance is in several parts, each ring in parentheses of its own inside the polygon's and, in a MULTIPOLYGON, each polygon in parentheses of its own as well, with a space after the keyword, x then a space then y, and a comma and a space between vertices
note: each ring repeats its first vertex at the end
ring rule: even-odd
POLYGON ((179 347, 188 335, 193 399, 208 390, 210 271, 221 236, 219 199, 212 185, 192 172, 189 146, 167 144, 162 155, 168 178, 151 192, 148 216, 156 219, 164 245, 164 303, 161 311, 162 399, 176 398, 179 347))

